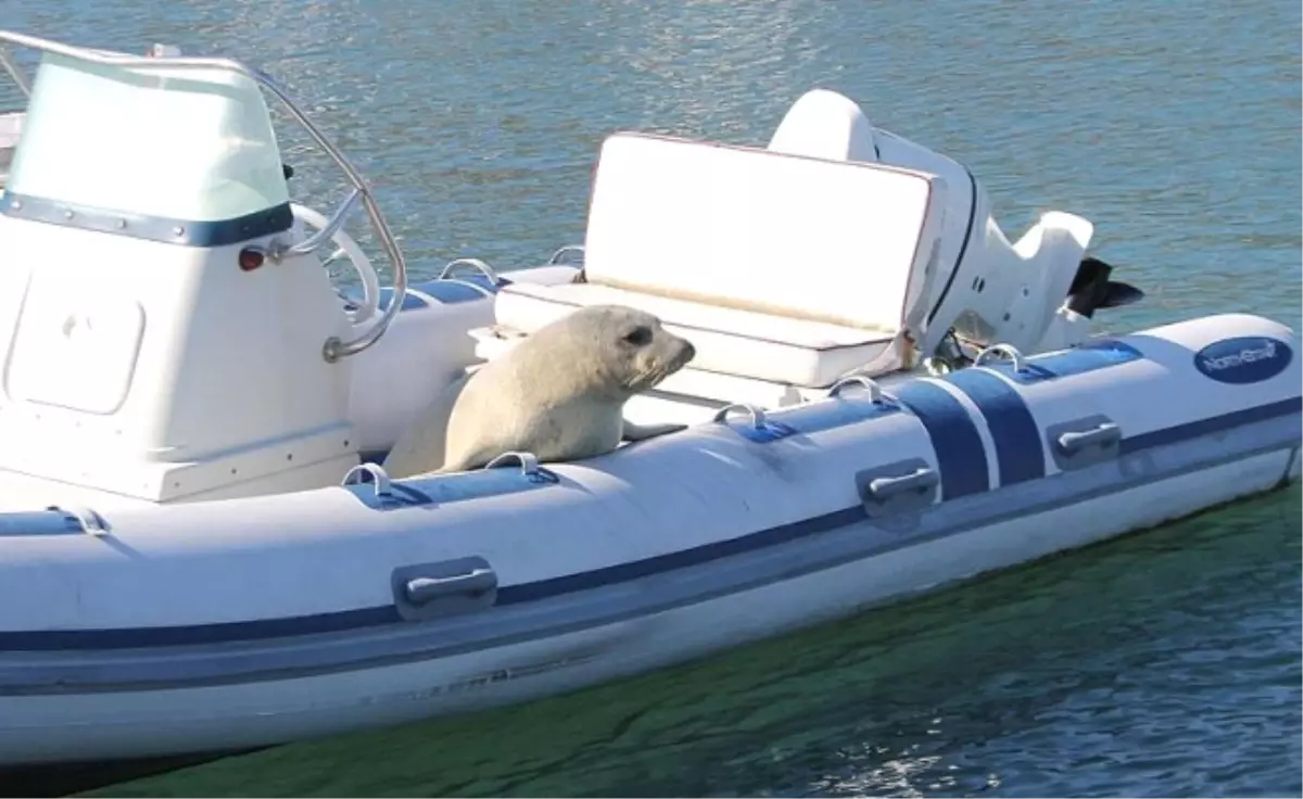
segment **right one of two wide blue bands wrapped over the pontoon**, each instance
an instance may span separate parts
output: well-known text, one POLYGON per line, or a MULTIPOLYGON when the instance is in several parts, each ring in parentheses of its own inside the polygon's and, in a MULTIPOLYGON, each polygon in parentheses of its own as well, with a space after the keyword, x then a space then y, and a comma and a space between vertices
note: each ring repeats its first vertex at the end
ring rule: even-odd
POLYGON ((1041 429, 1016 388, 982 368, 962 369, 945 379, 968 395, 986 418, 999 463, 999 485, 1045 477, 1041 429))

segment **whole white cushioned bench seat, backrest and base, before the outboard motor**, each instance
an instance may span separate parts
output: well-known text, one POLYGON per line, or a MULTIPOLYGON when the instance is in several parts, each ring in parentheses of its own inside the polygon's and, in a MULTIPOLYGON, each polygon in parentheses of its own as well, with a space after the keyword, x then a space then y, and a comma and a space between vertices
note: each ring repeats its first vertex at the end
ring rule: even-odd
POLYGON ((895 167, 616 133, 593 179, 588 282, 507 285, 496 319, 528 334, 628 305, 692 341, 692 370, 803 388, 890 371, 929 296, 943 193, 895 167))

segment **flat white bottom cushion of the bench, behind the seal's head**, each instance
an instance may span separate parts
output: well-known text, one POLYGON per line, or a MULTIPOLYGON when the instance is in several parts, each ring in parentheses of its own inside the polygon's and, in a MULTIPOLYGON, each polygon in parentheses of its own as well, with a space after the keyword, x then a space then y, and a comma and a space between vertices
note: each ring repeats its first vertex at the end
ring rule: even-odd
POLYGON ((530 334, 588 305, 627 305, 655 314, 692 341, 691 369, 818 388, 853 369, 900 366, 893 330, 864 330, 658 297, 609 285, 512 283, 498 292, 498 323, 530 334))

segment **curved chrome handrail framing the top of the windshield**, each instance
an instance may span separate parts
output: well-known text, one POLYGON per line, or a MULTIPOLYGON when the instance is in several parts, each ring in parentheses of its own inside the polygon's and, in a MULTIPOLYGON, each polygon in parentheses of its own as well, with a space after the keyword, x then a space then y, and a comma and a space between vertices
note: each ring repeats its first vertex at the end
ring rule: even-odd
MULTIPOLYGON (((30 47, 33 50, 39 50, 43 52, 52 52, 69 59, 78 59, 82 61, 89 61, 91 64, 100 64, 104 66, 130 66, 141 69, 224 69, 228 72, 237 72, 245 77, 251 78, 259 86, 270 91, 280 103, 285 107, 291 116, 294 117, 300 125, 308 130, 308 134, 317 142, 326 155, 344 172, 348 177, 348 182, 353 186, 353 193, 349 194, 344 202, 340 205, 339 210, 330 219, 327 225, 331 232, 339 229, 343 224, 344 215, 352 209, 353 203, 358 197, 362 199, 362 205, 366 207, 366 216, 371 222, 371 227, 375 228, 375 233, 380 240, 380 246, 384 249, 384 254, 388 255, 390 262, 394 265, 394 296, 380 314, 379 321, 366 328, 361 335, 351 339, 341 340, 339 336, 331 336, 326 339, 326 344, 322 347, 322 355, 327 361, 336 361, 341 357, 351 355, 357 355, 362 352, 384 335, 390 323, 397 317, 399 310, 403 308, 403 300, 407 297, 407 261, 403 258, 401 250, 399 250, 397 241, 394 240, 394 235, 390 232, 390 225, 386 224, 384 216, 380 214, 380 207, 375 202, 375 196, 371 193, 370 186, 362 180, 362 176, 353 167, 352 163, 340 153, 326 136, 317 129, 317 125, 308 119, 298 106, 294 104, 284 89, 267 73, 262 72, 255 66, 249 66, 242 61, 235 59, 216 59, 216 57, 195 57, 195 56, 129 56, 122 53, 112 53, 99 50, 87 50, 85 47, 73 47, 70 44, 60 44, 59 42, 51 42, 48 39, 40 39, 36 36, 29 36, 26 34, 13 33, 8 30, 0 30, 0 63, 3 63, 5 72, 18 82, 20 89, 25 93, 31 93, 31 86, 26 85, 22 77, 22 70, 18 69, 17 64, 13 63, 9 53, 5 51, 5 43, 16 44, 20 47, 30 47)), ((313 236, 309 241, 315 240, 319 246, 321 242, 326 241, 328 236, 323 236, 324 231, 313 236)), ((297 246, 308 244, 300 242, 297 246)), ((288 252, 302 252, 296 248, 289 248, 288 252)), ((310 252, 310 250, 308 250, 310 252)))

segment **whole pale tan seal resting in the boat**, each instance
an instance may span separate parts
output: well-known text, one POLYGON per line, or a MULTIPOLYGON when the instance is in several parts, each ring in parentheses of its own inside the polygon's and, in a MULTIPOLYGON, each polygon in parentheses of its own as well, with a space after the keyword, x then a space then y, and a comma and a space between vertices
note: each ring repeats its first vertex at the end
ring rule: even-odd
POLYGON ((384 460, 391 477, 464 472, 503 452, 581 460, 687 425, 633 425, 624 404, 696 356, 650 313, 590 305, 534 331, 461 377, 420 414, 384 460))

